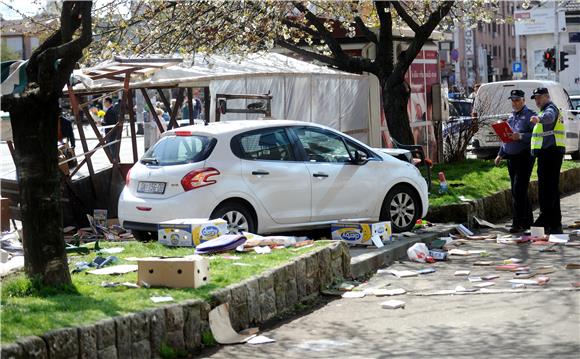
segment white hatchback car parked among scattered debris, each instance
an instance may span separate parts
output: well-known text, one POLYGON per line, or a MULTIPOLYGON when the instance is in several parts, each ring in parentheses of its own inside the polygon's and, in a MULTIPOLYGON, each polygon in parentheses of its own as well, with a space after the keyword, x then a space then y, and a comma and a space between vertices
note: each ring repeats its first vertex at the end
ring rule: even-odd
POLYGON ((409 162, 324 126, 248 120, 165 132, 127 174, 118 213, 148 239, 176 218, 224 218, 253 233, 346 218, 406 231, 427 209, 427 184, 409 162))

